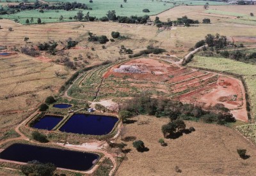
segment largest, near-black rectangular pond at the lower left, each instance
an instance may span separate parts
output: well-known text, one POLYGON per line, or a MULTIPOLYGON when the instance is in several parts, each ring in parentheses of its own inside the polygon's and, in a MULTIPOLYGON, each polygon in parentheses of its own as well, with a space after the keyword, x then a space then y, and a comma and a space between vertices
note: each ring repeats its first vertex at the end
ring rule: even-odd
POLYGON ((58 168, 80 171, 90 170, 99 160, 97 154, 39 147, 22 143, 10 145, 10 147, 0 153, 0 158, 22 163, 36 160, 40 163, 53 163, 58 168))

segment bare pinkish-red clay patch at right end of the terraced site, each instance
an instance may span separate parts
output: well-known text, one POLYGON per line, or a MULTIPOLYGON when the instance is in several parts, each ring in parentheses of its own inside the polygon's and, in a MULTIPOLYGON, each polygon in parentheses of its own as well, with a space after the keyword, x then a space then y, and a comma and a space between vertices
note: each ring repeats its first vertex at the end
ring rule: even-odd
POLYGON ((183 94, 179 99, 180 101, 203 103, 204 108, 222 103, 231 110, 236 119, 248 121, 243 84, 233 77, 220 75, 218 82, 211 89, 206 88, 183 94))

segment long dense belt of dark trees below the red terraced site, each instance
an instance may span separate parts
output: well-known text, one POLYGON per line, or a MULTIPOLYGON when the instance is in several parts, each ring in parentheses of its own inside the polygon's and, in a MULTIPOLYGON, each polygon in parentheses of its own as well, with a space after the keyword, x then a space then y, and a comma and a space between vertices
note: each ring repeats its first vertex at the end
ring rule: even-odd
POLYGON ((124 121, 134 115, 148 114, 156 117, 169 117, 172 121, 176 119, 195 120, 203 122, 216 122, 225 124, 235 122, 236 119, 230 114, 230 110, 222 104, 212 106, 210 111, 202 110, 202 107, 184 104, 166 98, 152 98, 147 92, 136 95, 122 105, 119 115, 124 121))

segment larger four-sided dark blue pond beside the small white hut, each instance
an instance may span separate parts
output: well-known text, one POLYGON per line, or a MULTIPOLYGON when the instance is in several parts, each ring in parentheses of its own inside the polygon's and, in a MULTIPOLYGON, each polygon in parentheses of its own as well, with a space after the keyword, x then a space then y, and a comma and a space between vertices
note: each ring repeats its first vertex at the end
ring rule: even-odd
POLYGON ((106 115, 74 114, 60 128, 67 133, 106 135, 114 128, 118 118, 106 115))

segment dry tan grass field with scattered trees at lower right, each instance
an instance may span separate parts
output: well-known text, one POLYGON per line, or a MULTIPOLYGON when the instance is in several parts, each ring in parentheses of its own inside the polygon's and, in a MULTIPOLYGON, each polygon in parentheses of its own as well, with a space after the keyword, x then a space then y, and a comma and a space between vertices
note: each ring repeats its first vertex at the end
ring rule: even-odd
POLYGON ((254 175, 256 172, 255 146, 234 129, 186 121, 187 128, 193 126, 196 131, 175 140, 165 139, 168 146, 162 147, 158 140, 163 138, 161 126, 168 119, 141 116, 142 119, 149 119, 149 124, 127 124, 125 136, 143 140, 149 151, 138 152, 132 142, 127 142, 125 149, 132 150, 116 175, 176 175, 175 166, 182 170, 182 175, 254 175), (237 149, 240 148, 248 151, 249 159, 239 158, 237 149))

